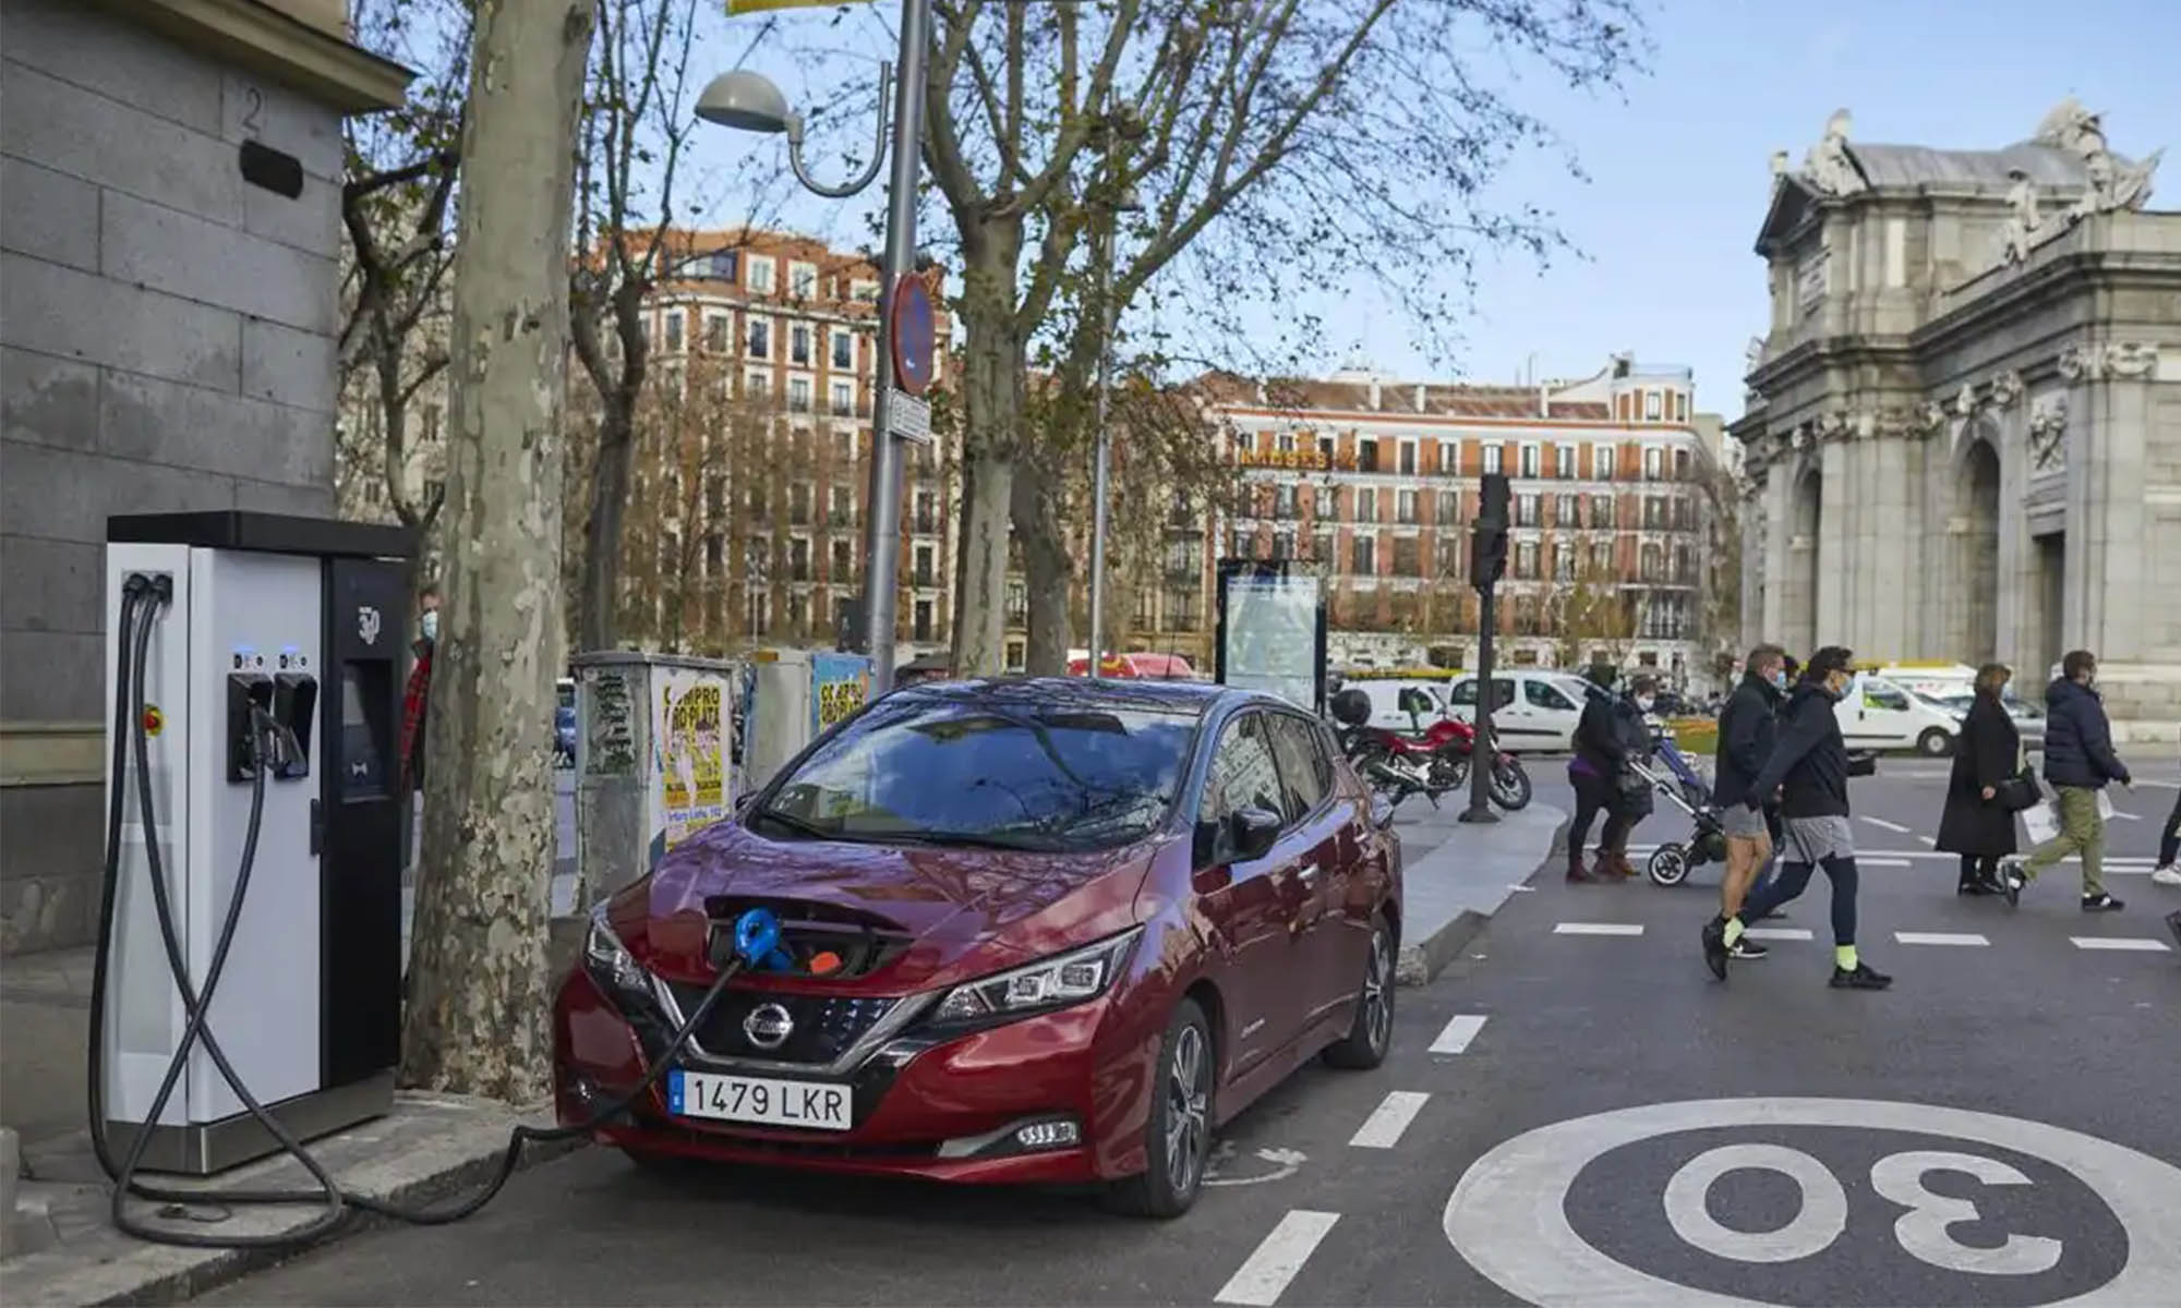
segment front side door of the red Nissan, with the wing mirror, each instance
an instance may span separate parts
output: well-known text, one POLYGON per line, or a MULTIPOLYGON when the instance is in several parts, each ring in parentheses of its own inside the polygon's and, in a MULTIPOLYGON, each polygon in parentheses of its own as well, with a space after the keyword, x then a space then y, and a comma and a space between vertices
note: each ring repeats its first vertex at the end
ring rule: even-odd
POLYGON ((1197 909, 1219 957, 1228 1009, 1230 1077, 1248 1073, 1300 1031, 1309 1007, 1296 970, 1300 848, 1274 759, 1269 713, 1237 713, 1219 730, 1197 800, 1197 909), (1221 833, 1234 813, 1267 809, 1285 831, 1263 859, 1234 859, 1221 833))

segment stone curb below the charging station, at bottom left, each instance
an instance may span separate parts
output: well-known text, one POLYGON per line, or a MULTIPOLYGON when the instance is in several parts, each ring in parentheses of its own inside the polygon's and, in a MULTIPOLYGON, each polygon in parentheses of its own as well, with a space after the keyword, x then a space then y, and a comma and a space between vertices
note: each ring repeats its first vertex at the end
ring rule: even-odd
MULTIPOLYGON (((506 1151, 510 1118, 475 1123, 462 1131, 462 1140, 449 1149, 462 1149, 462 1158, 451 1162, 421 1162, 414 1155, 393 1160, 382 1175, 342 1177, 342 1188, 384 1203, 421 1208, 445 1201, 462 1190, 482 1188, 499 1173, 499 1158, 506 1151), (471 1140, 469 1136, 478 1136, 471 1140), (386 1175, 393 1173, 393 1175, 386 1175)), ((521 1153, 515 1171, 523 1173, 541 1162, 565 1158, 585 1147, 585 1140, 552 1140, 530 1144, 521 1153)), ((216 1203, 216 1192, 207 1195, 216 1203)), ((318 1210, 292 1208, 294 1223, 312 1221, 318 1210)), ((264 1271, 288 1262, 301 1254, 338 1245, 349 1236, 403 1225, 390 1216, 349 1210, 349 1221, 312 1245, 288 1245, 275 1249, 183 1249, 172 1245, 131 1245, 131 1251, 111 1262, 92 1267, 68 1267, 81 1260, 68 1249, 52 1249, 9 1260, 7 1280, 11 1306, 28 1304, 183 1304, 196 1295, 229 1286, 253 1271, 264 1271), (50 1269, 50 1271, 48 1271, 50 1269), (46 1273, 46 1275, 39 1275, 46 1273)), ((273 1232, 266 1232, 273 1234, 273 1232)))

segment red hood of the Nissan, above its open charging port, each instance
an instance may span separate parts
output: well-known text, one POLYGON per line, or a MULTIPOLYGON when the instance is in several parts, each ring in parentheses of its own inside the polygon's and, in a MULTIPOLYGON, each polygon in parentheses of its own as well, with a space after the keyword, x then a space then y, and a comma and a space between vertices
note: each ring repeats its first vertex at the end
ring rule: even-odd
POLYGON ((1134 927, 1154 852, 1149 839, 1058 855, 772 839, 728 820, 659 859, 641 907, 624 911, 641 918, 646 964, 667 974, 709 972, 707 924, 763 903, 783 918, 853 920, 909 937, 870 981, 925 985, 1134 927))

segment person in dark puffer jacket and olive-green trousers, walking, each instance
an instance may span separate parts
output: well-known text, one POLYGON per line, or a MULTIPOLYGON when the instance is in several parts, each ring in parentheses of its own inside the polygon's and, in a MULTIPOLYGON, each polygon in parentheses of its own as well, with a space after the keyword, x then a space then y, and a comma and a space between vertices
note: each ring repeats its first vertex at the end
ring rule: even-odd
POLYGON ((2083 855, 2083 911, 2118 913, 2124 905, 2105 894, 2105 813, 2100 798, 2113 780, 2131 785, 2129 765, 2113 754, 2113 726, 2105 700, 2092 689, 2098 656, 2070 650, 2059 661, 2061 676, 2046 687, 2046 780, 2059 791, 2059 835, 2031 850, 2028 859, 2000 863, 2000 885, 2009 905, 2022 903, 2022 887, 2068 855, 2083 855))

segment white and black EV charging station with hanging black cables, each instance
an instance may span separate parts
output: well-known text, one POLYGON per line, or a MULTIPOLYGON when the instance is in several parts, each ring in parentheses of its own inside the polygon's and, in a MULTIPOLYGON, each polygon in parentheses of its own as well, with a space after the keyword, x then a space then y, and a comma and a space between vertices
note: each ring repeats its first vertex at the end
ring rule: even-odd
POLYGON ((122 807, 92 1129, 142 1149, 148 1171, 207 1175, 281 1147, 203 1040, 155 1116, 192 1020, 170 946, 203 994, 231 933, 205 1027, 288 1134, 325 1136, 393 1105, 410 554, 410 532, 369 523, 107 519, 109 804, 122 807))

